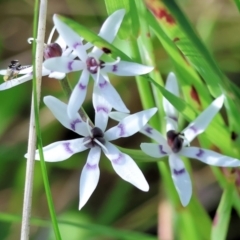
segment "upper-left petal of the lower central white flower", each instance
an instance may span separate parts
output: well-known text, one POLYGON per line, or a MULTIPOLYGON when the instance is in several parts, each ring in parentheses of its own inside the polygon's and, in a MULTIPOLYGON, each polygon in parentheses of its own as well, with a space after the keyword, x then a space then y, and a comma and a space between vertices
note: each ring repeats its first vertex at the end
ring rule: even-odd
POLYGON ((73 118, 69 118, 67 114, 67 104, 61 102, 60 100, 52 96, 44 97, 43 101, 47 105, 47 107, 51 110, 55 118, 64 127, 82 136, 89 135, 86 123, 81 119, 77 112, 75 112, 73 118))

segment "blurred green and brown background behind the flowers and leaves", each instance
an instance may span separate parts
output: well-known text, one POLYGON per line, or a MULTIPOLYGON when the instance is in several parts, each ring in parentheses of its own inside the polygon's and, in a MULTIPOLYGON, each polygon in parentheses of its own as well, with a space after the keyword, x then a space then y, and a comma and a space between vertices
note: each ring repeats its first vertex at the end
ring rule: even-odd
MULTIPOLYGON (((220 68, 235 83, 240 77, 240 14, 232 1, 227 0, 179 0, 178 4, 214 55, 220 68)), ((54 13, 70 17, 95 32, 107 12, 102 0, 52 0, 48 5, 47 33, 50 33, 54 13)), ((0 69, 18 59, 21 64, 31 64, 31 45, 27 38, 32 37, 33 1, 0 1, 0 69)), ((57 34, 55 35, 55 38, 57 34)), ((154 39, 153 39, 154 40, 154 39)), ((172 70, 171 62, 158 41, 154 45, 155 57, 163 78, 172 70)), ((74 85, 80 73, 70 74, 74 85)), ((2 77, 0 78, 2 82, 2 77)), ((131 112, 142 109, 135 81, 131 78, 111 76, 126 106, 131 112), (127 86, 127 87, 126 87, 127 86)), ((31 104, 31 81, 12 89, 0 92, 0 239, 19 239, 21 224, 18 219, 7 220, 1 214, 19 216, 22 214, 23 190, 26 160, 23 155, 27 149, 28 124, 31 104)), ((85 109, 93 119, 89 86, 85 109)), ((43 78, 42 96, 54 95, 67 102, 60 84, 55 79, 43 78)), ((78 137, 58 123, 41 101, 41 127, 43 145, 54 141, 78 137)), ((114 122, 110 122, 112 126, 114 122)), ((122 147, 139 149, 139 144, 149 141, 142 135, 117 142, 122 147)), ((171 205, 161 187, 161 176, 155 163, 140 163, 150 191, 143 193, 120 179, 110 162, 102 156, 100 161, 100 181, 88 203, 79 212, 79 178, 85 164, 87 152, 76 154, 60 163, 47 163, 50 186, 58 218, 91 226, 88 223, 106 225, 125 230, 157 234, 163 240, 175 239, 171 226, 175 219, 171 205)), ((204 208, 213 218, 221 197, 221 189, 209 166, 192 162, 193 186, 204 208)), ((42 182, 39 162, 35 164, 32 217, 49 219, 49 212, 42 182)), ((229 240, 240 239, 239 217, 233 211, 228 230, 229 240)), ((60 224, 63 239, 122 239, 100 233, 96 226, 84 229, 60 224)), ((102 229, 103 231, 103 229, 102 229)), ((51 228, 35 223, 31 226, 31 239, 54 239, 51 228)), ((134 239, 134 238, 133 238, 134 239)))

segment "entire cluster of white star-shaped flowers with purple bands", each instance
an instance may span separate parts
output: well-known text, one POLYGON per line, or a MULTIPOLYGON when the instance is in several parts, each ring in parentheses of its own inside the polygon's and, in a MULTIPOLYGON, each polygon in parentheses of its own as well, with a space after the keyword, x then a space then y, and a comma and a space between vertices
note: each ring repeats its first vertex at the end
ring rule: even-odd
MULTIPOLYGON (((99 36, 112 43, 124 14, 125 10, 122 9, 110 15, 100 29, 99 36)), ((45 161, 57 162, 89 149, 86 164, 80 177, 79 209, 86 204, 98 184, 101 151, 110 160, 113 169, 122 179, 142 191, 148 191, 149 185, 134 160, 111 143, 112 140, 129 137, 137 132, 141 132, 156 141, 156 143, 142 143, 140 147, 144 153, 159 159, 168 156, 171 176, 183 206, 186 206, 191 199, 192 185, 180 156, 194 158, 213 166, 240 166, 238 159, 190 146, 190 142, 198 134, 205 131, 221 109, 224 103, 223 95, 215 99, 181 132, 178 130, 178 112, 167 99, 163 98, 163 109, 166 114, 165 138, 148 124, 157 108, 129 114, 128 108, 108 77, 108 73, 118 76, 147 74, 153 70, 153 67, 122 61, 120 58, 112 62, 105 62, 102 60, 102 55, 106 53, 106 50, 99 49, 91 43, 84 44, 83 38, 64 23, 58 15, 54 15, 53 22, 55 26, 44 50, 42 76, 48 75, 61 80, 72 71, 81 71, 81 75, 68 104, 53 96, 44 97, 44 103, 64 127, 82 137, 52 143, 45 146, 43 152, 45 161), (56 42, 51 43, 55 29, 59 33, 59 38, 56 42), (83 118, 79 114, 79 109, 86 97, 90 78, 94 81, 92 92, 95 110, 94 124, 87 116, 83 118), (111 112, 113 108, 117 112, 111 112), (109 117, 118 120, 119 123, 106 130, 109 117)), ((29 39, 29 41, 35 40, 29 39)), ((0 74, 5 75, 5 82, 0 85, 0 90, 5 90, 32 79, 32 67, 21 66, 18 61, 14 60, 8 69, 0 70, 0 74), (18 77, 18 74, 23 76, 18 77)), ((178 83, 173 73, 170 73, 167 78, 166 90, 179 97, 178 83)), ((28 157, 28 154, 25 157, 28 157)), ((38 150, 35 159, 40 159, 38 150)))

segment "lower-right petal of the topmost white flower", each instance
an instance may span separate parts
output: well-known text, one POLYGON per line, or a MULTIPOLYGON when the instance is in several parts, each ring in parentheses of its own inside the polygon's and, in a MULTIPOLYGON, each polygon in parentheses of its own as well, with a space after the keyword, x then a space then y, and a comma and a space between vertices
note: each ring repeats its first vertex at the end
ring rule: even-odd
POLYGON ((119 112, 129 112, 124 102, 122 101, 120 95, 112 86, 112 84, 105 80, 104 77, 100 74, 99 81, 97 82, 96 74, 92 74, 92 77, 95 80, 95 83, 99 87, 99 91, 102 96, 108 101, 108 103, 119 112))

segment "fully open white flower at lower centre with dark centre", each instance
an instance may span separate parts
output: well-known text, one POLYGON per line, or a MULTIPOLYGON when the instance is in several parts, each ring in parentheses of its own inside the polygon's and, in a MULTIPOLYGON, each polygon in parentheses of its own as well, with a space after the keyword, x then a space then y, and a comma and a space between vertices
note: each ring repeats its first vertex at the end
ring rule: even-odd
MULTIPOLYGON (((80 178, 79 209, 85 205, 97 186, 100 175, 98 163, 101 150, 121 178, 142 191, 148 191, 148 183, 137 164, 130 156, 120 152, 110 141, 128 137, 138 132, 155 114, 156 108, 129 115, 120 121, 117 126, 105 131, 111 106, 98 94, 97 90, 93 95, 96 113, 95 126, 90 126, 84 122, 78 113, 75 113, 75 116, 70 118, 67 114, 67 105, 52 96, 44 97, 44 102, 63 126, 83 136, 83 138, 55 142, 44 147, 45 161, 63 161, 75 153, 90 149, 80 178)), ((27 154, 25 156, 27 157, 27 154)), ((38 150, 35 159, 40 159, 38 150)))

